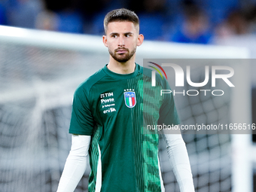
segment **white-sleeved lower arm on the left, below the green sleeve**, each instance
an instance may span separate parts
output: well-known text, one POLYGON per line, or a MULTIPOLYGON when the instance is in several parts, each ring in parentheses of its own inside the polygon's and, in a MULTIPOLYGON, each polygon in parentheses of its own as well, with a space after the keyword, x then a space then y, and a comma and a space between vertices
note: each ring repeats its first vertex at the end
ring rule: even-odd
POLYGON ((72 135, 72 147, 59 180, 57 192, 72 192, 84 175, 90 136, 72 135))

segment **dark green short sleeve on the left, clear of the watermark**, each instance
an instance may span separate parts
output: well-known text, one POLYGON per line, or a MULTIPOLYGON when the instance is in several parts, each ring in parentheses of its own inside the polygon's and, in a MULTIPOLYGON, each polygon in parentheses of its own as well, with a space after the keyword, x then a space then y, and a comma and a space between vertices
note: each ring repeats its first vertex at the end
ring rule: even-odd
POLYGON ((87 97, 88 93, 82 87, 75 91, 69 133, 86 136, 93 135, 95 120, 90 111, 90 102, 87 97))

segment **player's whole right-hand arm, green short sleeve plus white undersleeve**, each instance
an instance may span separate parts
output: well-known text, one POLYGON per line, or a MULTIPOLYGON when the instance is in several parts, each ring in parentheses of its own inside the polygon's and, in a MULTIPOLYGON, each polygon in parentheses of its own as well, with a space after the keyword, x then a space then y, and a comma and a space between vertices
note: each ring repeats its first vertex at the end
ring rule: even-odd
MULTIPOLYGON (((159 82, 162 84, 164 90, 171 90, 166 80, 159 82)), ((178 112, 175 108, 175 102, 172 93, 164 94, 163 96, 163 104, 160 107, 160 117, 157 123, 159 125, 178 125, 180 120, 178 118, 178 112)), ((163 134, 163 137, 166 140, 169 161, 178 181, 178 186, 181 192, 194 192, 194 183, 190 169, 187 148, 182 139, 181 133, 176 132, 175 134, 168 134, 168 130, 165 131, 167 133, 163 134)))

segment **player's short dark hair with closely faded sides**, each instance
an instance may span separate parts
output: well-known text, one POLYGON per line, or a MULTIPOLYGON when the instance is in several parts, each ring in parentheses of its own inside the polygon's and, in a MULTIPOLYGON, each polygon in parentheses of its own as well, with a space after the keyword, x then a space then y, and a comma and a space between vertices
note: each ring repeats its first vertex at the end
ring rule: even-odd
POLYGON ((115 9, 108 12, 104 18, 104 30, 107 31, 108 23, 115 21, 130 21, 134 26, 138 26, 139 29, 139 17, 133 11, 125 8, 115 9))

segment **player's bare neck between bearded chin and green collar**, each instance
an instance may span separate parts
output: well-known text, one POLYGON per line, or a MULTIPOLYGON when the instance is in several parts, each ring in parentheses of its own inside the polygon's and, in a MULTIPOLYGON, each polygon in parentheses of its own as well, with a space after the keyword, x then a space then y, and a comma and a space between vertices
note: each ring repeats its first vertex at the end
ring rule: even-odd
POLYGON ((108 62, 108 69, 111 72, 118 73, 118 74, 130 74, 135 71, 136 64, 135 64, 135 58, 131 58, 127 62, 117 62, 113 58, 110 59, 108 62))

